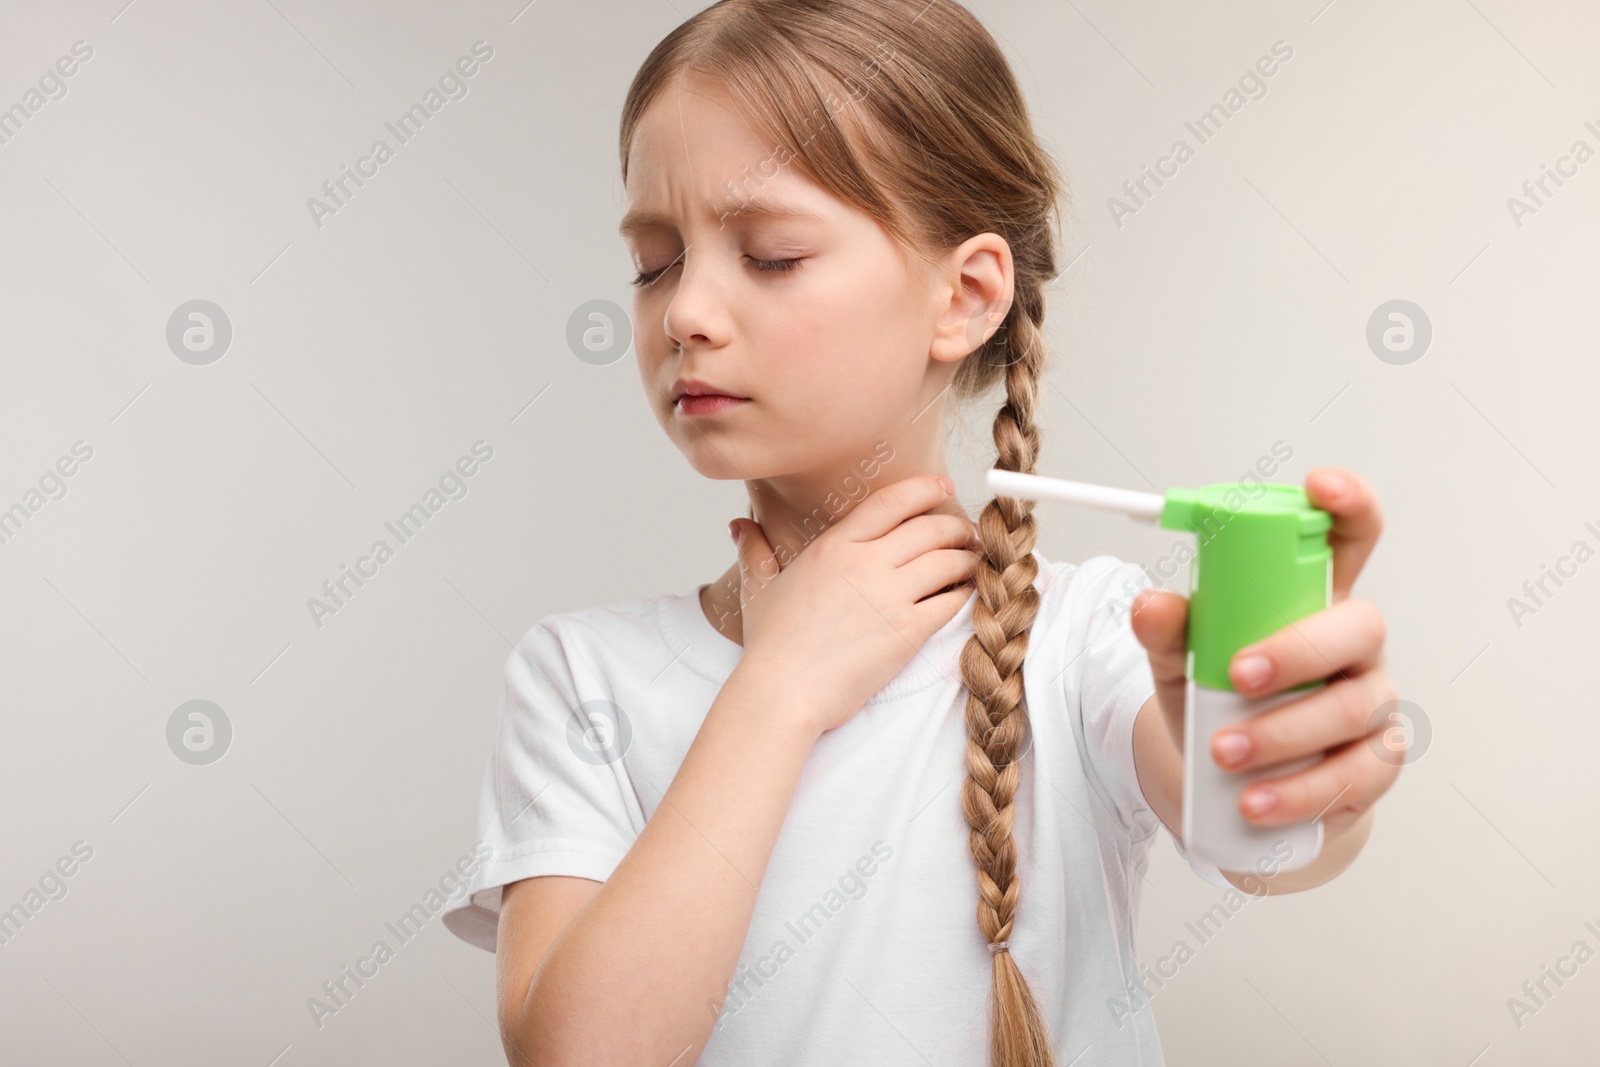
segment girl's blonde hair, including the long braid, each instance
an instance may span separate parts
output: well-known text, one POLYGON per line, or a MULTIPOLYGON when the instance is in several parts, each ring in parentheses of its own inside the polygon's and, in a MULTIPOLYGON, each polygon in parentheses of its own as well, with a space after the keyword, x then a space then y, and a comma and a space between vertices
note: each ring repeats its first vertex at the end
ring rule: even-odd
MULTIPOLYGON (((974 234, 1006 240, 1013 304, 962 362, 952 392, 973 400, 1005 382, 995 466, 1032 474, 1045 288, 1058 274, 1051 214, 1059 226, 1067 194, 982 24, 952 0, 720 0, 662 38, 634 77, 619 139, 624 182, 640 117, 690 70, 730 90, 787 157, 779 165, 798 166, 877 219, 923 262, 974 234)), ((1027 731, 1022 657, 1038 613, 1032 502, 990 499, 978 526, 973 637, 960 657, 968 689, 962 808, 978 865, 978 926, 994 945, 990 1064, 1054 1067, 1034 995, 1000 944, 1013 937, 1021 894, 1011 824, 1027 731)))

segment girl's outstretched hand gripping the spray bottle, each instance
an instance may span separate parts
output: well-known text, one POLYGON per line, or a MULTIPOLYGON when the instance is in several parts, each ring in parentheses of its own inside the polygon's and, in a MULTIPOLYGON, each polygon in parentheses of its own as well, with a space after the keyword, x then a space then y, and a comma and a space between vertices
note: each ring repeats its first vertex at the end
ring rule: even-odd
MULTIPOLYGON (((1328 678, 1309 696, 1216 731, 1211 758, 1229 771, 1248 771, 1298 757, 1326 758, 1285 777, 1242 790, 1238 809, 1258 825, 1299 822, 1322 814, 1328 837, 1355 822, 1400 774, 1400 760, 1379 757, 1389 723, 1374 710, 1395 699, 1384 670, 1384 619, 1350 585, 1382 531, 1382 514, 1366 482, 1350 472, 1318 467, 1306 477, 1310 502, 1333 515, 1333 605, 1242 648, 1229 680, 1243 696, 1259 697, 1302 681, 1328 678)), ((1184 744, 1184 665, 1189 600, 1166 590, 1134 597, 1133 632, 1149 651, 1166 729, 1184 744)))

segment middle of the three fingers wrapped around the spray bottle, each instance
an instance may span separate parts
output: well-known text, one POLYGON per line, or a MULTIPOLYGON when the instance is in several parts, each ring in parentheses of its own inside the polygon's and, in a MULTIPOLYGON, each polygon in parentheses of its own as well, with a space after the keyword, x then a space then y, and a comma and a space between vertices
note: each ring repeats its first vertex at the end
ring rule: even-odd
POLYGON ((1341 678, 1314 693, 1216 731, 1211 758, 1229 771, 1253 771, 1326 752, 1371 733, 1373 710, 1394 699, 1381 670, 1341 678), (1230 739, 1242 744, 1230 744, 1230 739))

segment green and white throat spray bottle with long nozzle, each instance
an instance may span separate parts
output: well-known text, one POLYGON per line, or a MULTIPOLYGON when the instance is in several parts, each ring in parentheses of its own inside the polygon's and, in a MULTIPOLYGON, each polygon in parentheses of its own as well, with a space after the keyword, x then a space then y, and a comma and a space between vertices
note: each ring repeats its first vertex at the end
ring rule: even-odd
POLYGON ((990 470, 989 491, 1024 501, 1080 504, 1195 534, 1190 563, 1189 657, 1184 675, 1184 849, 1222 870, 1294 870, 1322 851, 1322 819, 1256 825, 1238 809, 1251 782, 1322 761, 1301 757, 1227 771, 1211 734, 1325 685, 1307 681, 1262 697, 1234 689, 1234 654, 1333 601, 1333 518, 1290 485, 1226 482, 1165 494, 990 470))

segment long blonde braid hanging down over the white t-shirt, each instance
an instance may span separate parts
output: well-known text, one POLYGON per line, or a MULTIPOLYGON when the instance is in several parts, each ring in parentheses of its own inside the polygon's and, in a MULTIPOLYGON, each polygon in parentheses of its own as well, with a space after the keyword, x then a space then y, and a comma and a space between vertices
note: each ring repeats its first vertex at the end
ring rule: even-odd
MULTIPOLYGON (((1019 294, 1019 298, 1024 294, 1019 294)), ((1005 368, 1006 402, 994 422, 1000 470, 1032 474, 1038 458, 1034 408, 1043 368, 1042 293, 1026 294, 1008 318, 1011 336, 1002 352, 1014 352, 1005 368)), ((995 498, 978 518, 982 555, 974 579, 973 637, 962 648, 966 683, 966 781, 962 809, 971 825, 968 841, 978 864, 978 928, 989 945, 1011 937, 1022 883, 1011 837, 1021 753, 1027 731, 1022 657, 1038 614, 1037 523, 1034 502, 995 498)), ((990 1064, 1053 1067, 1050 1032, 1008 947, 994 953, 990 1064)))

